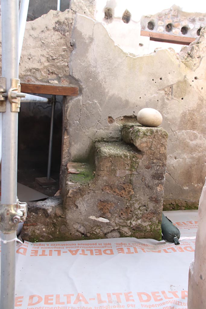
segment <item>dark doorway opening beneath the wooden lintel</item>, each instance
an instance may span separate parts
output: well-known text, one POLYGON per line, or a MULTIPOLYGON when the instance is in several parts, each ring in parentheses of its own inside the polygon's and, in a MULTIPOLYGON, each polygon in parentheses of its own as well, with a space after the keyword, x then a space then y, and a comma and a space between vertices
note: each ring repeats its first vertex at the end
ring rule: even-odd
MULTIPOLYGON (((37 95, 37 94, 36 94, 37 95)), ((52 95, 41 95, 51 98, 52 95)), ((63 96, 56 96, 53 127, 51 177, 52 186, 40 186, 37 177, 47 176, 48 146, 52 105, 48 103, 21 103, 18 126, 18 182, 48 196, 59 189, 62 139, 63 96)))

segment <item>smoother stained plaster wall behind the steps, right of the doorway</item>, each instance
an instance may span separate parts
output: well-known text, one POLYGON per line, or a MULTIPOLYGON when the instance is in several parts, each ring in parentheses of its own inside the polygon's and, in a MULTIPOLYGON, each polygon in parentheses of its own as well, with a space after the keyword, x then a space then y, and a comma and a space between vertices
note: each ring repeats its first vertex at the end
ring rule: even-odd
POLYGON ((205 176, 204 34, 183 61, 170 50, 131 57, 101 23, 77 15, 70 74, 82 94, 66 104, 63 166, 88 159, 94 140, 118 140, 121 117, 156 108, 169 133, 165 199, 197 202, 205 176))

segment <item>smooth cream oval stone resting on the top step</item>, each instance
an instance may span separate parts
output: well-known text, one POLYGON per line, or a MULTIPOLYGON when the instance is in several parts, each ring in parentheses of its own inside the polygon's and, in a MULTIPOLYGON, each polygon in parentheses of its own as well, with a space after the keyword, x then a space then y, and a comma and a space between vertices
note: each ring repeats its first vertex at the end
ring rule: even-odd
POLYGON ((146 127, 158 127, 162 123, 162 115, 154 108, 142 108, 137 114, 137 121, 146 127))

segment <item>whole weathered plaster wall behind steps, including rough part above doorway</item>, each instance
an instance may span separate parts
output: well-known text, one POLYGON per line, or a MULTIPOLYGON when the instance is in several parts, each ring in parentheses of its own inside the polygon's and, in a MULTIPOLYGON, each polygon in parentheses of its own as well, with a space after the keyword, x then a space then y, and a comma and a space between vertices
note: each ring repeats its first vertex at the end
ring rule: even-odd
POLYGON ((137 57, 101 23, 78 14, 73 23, 72 10, 28 22, 19 67, 24 82, 79 86, 63 111, 62 171, 87 160, 95 140, 119 140, 124 116, 157 108, 169 133, 165 199, 197 203, 205 176, 205 30, 181 59, 172 50, 137 57))

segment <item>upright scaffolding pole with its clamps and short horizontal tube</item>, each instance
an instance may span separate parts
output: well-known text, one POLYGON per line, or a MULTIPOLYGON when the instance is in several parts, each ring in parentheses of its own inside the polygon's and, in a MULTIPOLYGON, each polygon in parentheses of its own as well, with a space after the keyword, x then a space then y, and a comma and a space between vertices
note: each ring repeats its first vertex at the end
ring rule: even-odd
MULTIPOLYGON (((23 0, 22 4, 28 1, 23 0)), ((1 292, 0 308, 15 308, 16 231, 26 219, 27 204, 17 199, 17 144, 20 99, 24 102, 47 102, 48 99, 20 92, 19 76, 19 0, 1 1, 2 17, 2 78, 0 112, 2 116, 1 175, 1 292)), ((24 13, 23 13, 24 11, 24 13)), ((25 26, 26 10, 20 24, 25 26)), ((21 30, 23 36, 23 28, 21 30)), ((23 42, 23 38, 22 38, 23 42)), ((21 42, 21 44, 22 44, 21 42)))

